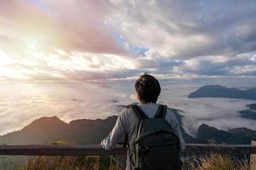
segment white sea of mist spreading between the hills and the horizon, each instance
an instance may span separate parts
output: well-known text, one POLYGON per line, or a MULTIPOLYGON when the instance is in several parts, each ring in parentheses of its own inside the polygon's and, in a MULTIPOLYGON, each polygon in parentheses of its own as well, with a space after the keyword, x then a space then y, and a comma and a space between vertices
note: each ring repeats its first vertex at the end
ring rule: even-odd
MULTIPOLYGON (((42 116, 58 116, 70 122, 119 115, 117 105, 137 101, 134 82, 0 82, 0 134, 19 130, 42 116)), ((195 134, 201 123, 220 129, 256 130, 256 121, 241 118, 237 112, 255 100, 188 98, 189 93, 206 84, 255 88, 253 78, 161 80, 160 84, 159 102, 183 111, 183 127, 190 134, 195 134)))

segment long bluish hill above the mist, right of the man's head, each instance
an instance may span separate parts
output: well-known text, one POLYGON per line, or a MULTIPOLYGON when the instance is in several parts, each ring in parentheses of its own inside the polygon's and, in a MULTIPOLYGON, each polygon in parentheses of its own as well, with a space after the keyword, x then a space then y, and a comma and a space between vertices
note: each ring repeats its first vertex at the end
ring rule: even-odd
POLYGON ((207 85, 189 94, 189 98, 256 99, 256 88, 241 90, 238 88, 225 88, 220 85, 207 85))

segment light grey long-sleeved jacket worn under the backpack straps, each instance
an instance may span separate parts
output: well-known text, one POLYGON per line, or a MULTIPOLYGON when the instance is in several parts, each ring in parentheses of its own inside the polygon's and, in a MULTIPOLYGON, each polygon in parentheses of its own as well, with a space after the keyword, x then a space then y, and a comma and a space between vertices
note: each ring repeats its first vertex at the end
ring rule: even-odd
MULTIPOLYGON (((143 112, 149 117, 154 117, 159 105, 155 103, 139 104, 138 105, 143 112)), ((171 110, 166 112, 166 121, 169 122, 172 126, 174 133, 177 135, 180 142, 180 150, 185 149, 185 143, 183 140, 182 133, 180 131, 179 123, 177 122, 176 116, 172 113, 171 110)), ((119 142, 119 139, 128 134, 128 146, 130 150, 127 152, 126 160, 126 170, 130 170, 130 156, 129 151, 134 150, 132 141, 135 138, 135 132, 137 128, 137 123, 139 122, 136 114, 131 111, 131 109, 125 109, 118 117, 117 122, 115 123, 113 130, 109 133, 108 137, 102 140, 102 148, 105 150, 111 150, 119 142)))

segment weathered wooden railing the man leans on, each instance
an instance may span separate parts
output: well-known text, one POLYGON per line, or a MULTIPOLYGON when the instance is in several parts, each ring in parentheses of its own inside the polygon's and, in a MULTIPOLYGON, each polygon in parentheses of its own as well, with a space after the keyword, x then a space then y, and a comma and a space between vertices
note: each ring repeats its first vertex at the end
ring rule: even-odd
MULTIPOLYGON (((113 150, 103 150, 96 144, 64 145, 0 145, 0 156, 115 156, 125 155, 118 145, 113 150)), ((256 146, 250 144, 187 144, 184 154, 256 154, 256 146)))

